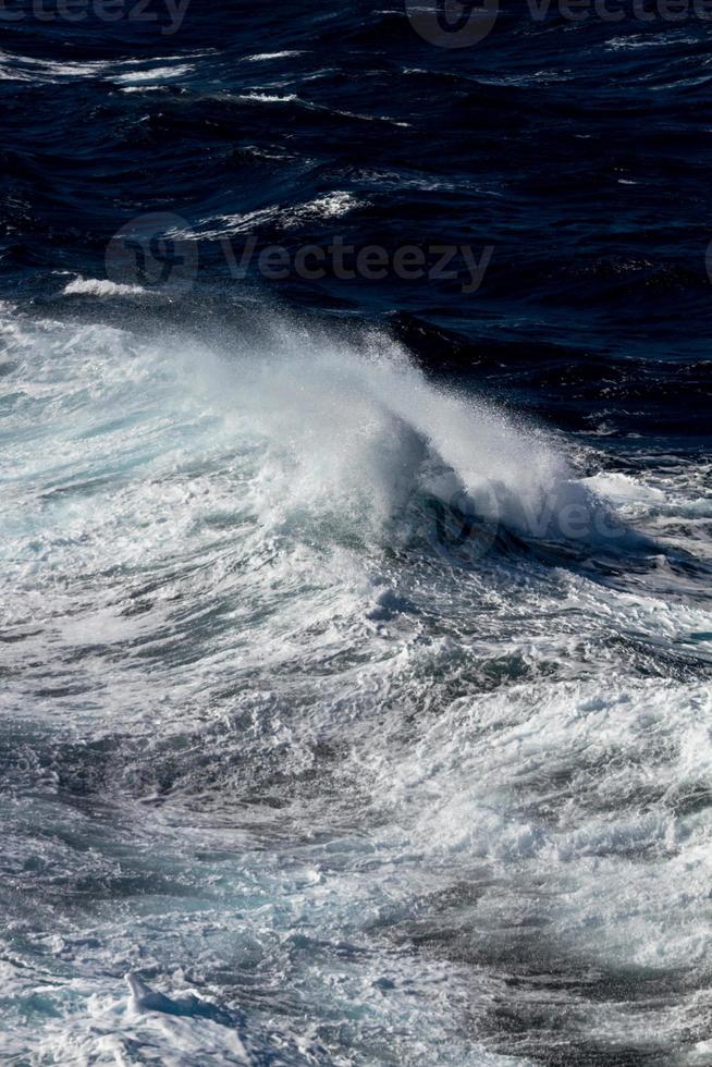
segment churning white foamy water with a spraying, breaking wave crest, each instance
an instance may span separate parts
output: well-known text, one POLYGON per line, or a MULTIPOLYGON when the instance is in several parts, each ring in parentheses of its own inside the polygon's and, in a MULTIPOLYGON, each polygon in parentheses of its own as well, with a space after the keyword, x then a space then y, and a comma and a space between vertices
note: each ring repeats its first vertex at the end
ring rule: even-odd
POLYGON ((377 333, 1 329, 2 1062, 711 1062, 700 468, 377 333))

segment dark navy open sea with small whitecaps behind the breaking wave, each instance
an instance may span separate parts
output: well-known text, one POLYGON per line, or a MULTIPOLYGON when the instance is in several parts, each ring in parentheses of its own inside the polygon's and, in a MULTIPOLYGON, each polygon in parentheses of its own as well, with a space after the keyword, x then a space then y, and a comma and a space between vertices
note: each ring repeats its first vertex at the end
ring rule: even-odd
MULTIPOLYGON (((491 245, 480 289, 462 298, 462 263, 459 279, 419 284, 291 271, 273 298, 394 321, 408 339, 442 331, 458 370, 516 389, 526 366, 530 403, 591 428, 605 412, 616 427, 704 431, 710 36, 692 12, 503 12, 458 49, 422 40, 397 4, 195 3, 165 35, 158 3, 145 24, 26 14, 3 26, 8 291, 49 295, 57 270, 101 275, 109 238, 148 211, 200 228, 336 189, 353 204, 342 217, 258 217, 236 255, 248 233, 292 255, 334 234, 391 256, 491 245), (175 73, 151 77, 164 57, 175 73)), ((216 240, 200 244, 199 283, 242 295, 216 240)))

